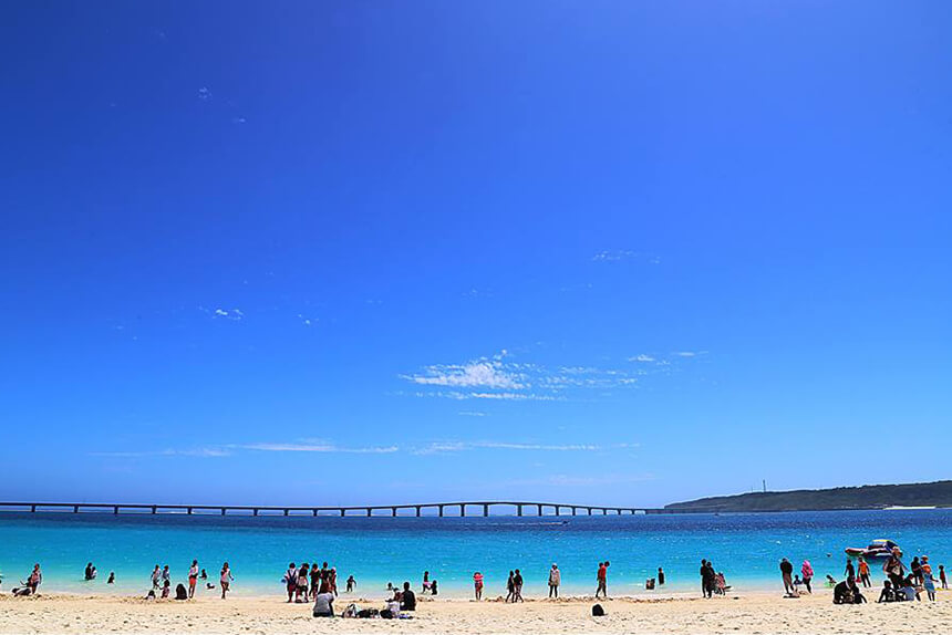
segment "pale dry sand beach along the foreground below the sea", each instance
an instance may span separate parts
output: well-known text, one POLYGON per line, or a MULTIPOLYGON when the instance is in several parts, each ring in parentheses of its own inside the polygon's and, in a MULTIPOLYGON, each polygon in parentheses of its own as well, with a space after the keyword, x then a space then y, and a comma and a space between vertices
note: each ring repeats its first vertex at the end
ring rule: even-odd
MULTIPOLYGON (((785 600, 754 593, 727 597, 602 602, 591 598, 525 604, 439 600, 421 602, 413 620, 315 620, 306 604, 279 597, 203 597, 146 602, 132 597, 0 596, 0 633, 952 633, 952 593, 939 601, 835 606, 825 590, 785 600)), ((358 601, 382 607, 380 601, 358 601)), ((341 602, 337 608, 343 608, 341 602)))

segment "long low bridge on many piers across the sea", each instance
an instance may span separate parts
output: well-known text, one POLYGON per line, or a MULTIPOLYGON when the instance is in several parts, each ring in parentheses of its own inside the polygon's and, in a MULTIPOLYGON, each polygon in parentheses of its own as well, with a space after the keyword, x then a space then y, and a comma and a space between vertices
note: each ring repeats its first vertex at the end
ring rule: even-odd
MULTIPOLYGON (((422 517, 424 510, 435 516, 490 516, 490 510, 509 511, 521 516, 634 516, 645 513, 677 513, 662 508, 602 507, 558 502, 477 500, 456 502, 427 502, 411 504, 371 504, 356 507, 271 507, 235 504, 145 504, 93 502, 0 502, 0 511, 72 512, 72 513, 146 513, 146 514, 203 514, 203 516, 391 516, 422 517), (500 509, 501 508, 501 509, 500 509), (472 513, 475 511, 476 513, 472 513), (403 512, 403 513, 401 513, 403 512), (454 513, 455 512, 455 513, 454 513)), ((427 513, 425 516, 434 516, 427 513)), ((503 516, 503 514, 497 514, 503 516)))

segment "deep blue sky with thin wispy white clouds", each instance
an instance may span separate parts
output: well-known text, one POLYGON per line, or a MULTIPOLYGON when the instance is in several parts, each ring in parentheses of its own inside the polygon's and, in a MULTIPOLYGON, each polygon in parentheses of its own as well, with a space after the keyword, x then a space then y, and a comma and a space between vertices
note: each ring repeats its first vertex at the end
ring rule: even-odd
POLYGON ((946 2, 0 18, 0 498, 949 477, 946 2))

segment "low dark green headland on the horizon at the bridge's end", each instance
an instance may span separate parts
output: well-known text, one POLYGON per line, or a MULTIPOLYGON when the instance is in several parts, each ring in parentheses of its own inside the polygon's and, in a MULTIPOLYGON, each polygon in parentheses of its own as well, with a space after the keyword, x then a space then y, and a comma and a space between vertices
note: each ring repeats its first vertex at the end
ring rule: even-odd
POLYGON ((664 506, 677 511, 811 511, 952 507, 952 480, 715 496, 664 506))

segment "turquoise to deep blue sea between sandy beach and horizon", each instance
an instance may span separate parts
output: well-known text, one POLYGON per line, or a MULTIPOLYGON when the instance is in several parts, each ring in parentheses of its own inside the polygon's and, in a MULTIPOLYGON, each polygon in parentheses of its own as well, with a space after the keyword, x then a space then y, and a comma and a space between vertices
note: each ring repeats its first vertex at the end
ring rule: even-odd
MULTIPOLYGON (((0 589, 9 590, 39 562, 46 592, 145 593, 155 564, 169 564, 185 581, 193 559, 217 582, 223 561, 242 595, 281 594, 289 561, 328 561, 340 587, 353 574, 361 594, 382 594, 386 583, 418 586, 424 570, 442 595, 467 595, 474 571, 486 576, 487 596, 505 595, 519 568, 526 594, 546 593, 552 562, 563 593, 592 593, 599 561, 609 560, 613 594, 645 594, 658 566, 669 592, 694 592, 700 560, 713 560, 735 589, 778 584, 777 562, 804 559, 816 575, 842 579, 847 546, 889 538, 907 562, 929 554, 938 573, 952 564, 952 510, 677 514, 577 518, 331 518, 112 516, 0 513, 0 589), (83 582, 86 562, 100 576, 83 582), (110 571, 116 584, 106 585, 110 571)), ((880 575, 879 566, 873 573, 880 575)), ((779 589, 779 586, 778 586, 779 589)))

